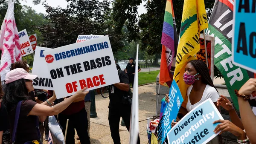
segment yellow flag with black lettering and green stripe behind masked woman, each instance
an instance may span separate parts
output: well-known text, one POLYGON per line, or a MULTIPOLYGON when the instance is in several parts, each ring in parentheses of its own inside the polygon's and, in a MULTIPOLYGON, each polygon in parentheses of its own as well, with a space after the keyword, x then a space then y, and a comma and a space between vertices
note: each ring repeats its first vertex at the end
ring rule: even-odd
POLYGON ((200 32, 208 28, 208 18, 204 0, 184 0, 181 26, 180 43, 177 48, 176 68, 174 80, 180 88, 184 99, 182 107, 186 108, 188 85, 183 81, 185 66, 200 50, 200 32))

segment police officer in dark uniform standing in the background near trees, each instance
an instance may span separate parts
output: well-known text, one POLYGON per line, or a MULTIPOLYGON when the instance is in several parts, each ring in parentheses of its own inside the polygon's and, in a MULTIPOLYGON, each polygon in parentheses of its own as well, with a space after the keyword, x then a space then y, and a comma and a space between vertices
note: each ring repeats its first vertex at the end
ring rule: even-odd
MULTIPOLYGON (((134 84, 134 74, 135 74, 135 63, 133 62, 134 58, 129 58, 128 60, 129 60, 130 63, 127 64, 127 66, 125 68, 125 72, 128 74, 130 84, 133 87, 133 84, 134 84)), ((138 72, 140 72, 140 70, 141 70, 140 66, 138 66, 138 72)))

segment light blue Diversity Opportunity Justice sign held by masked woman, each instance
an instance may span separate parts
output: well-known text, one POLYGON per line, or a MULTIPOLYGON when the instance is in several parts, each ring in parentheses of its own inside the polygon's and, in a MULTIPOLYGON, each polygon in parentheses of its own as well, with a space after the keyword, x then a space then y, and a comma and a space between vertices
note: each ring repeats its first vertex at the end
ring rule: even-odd
POLYGON ((209 98, 186 114, 167 134, 169 144, 206 144, 217 136, 214 121, 223 119, 209 98))

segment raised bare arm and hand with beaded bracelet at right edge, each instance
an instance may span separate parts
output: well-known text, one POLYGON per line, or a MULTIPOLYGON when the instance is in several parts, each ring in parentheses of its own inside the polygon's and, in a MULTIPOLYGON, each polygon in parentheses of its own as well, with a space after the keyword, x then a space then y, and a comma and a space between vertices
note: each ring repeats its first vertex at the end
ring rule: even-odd
MULTIPOLYGON (((239 94, 243 95, 250 95, 253 92, 256 92, 256 79, 249 79, 241 89, 239 89, 239 94)), ((256 144, 256 116, 248 101, 244 101, 243 98, 238 97, 238 104, 244 130, 246 131, 250 143, 256 144)))

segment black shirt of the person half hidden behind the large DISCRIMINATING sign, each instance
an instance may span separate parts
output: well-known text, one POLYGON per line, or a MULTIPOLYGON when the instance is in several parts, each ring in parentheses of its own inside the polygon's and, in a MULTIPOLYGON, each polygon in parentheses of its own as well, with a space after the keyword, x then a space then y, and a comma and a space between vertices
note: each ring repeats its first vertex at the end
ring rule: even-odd
MULTIPOLYGON (((128 75, 122 71, 122 70, 118 70, 118 76, 119 76, 119 80, 120 83, 125 83, 125 84, 129 84, 129 78, 128 75)), ((119 104, 121 104, 121 99, 124 95, 128 95, 128 92, 123 91, 118 89, 116 86, 114 86, 114 93, 111 93, 111 87, 113 85, 110 86, 109 89, 109 99, 110 99, 110 107, 111 106, 117 106, 119 104)))

